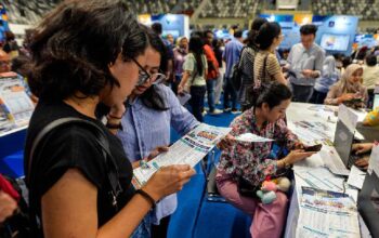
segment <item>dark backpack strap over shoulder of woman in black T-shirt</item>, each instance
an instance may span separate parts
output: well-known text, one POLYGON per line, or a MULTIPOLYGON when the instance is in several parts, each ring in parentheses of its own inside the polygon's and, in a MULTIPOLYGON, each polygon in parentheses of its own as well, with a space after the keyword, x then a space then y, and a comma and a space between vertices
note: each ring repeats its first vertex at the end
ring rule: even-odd
MULTIPOLYGON (((122 193, 122 187, 119 184, 118 181, 118 167, 117 163, 115 162, 112 154, 110 154, 110 148, 109 148, 109 143, 106 137, 106 134, 104 131, 94 122, 88 121, 84 119, 80 118, 75 118, 75 117, 66 117, 66 118, 61 118, 57 120, 54 120, 50 122, 48 125, 45 125, 35 137, 31 149, 29 153, 29 161, 27 164, 27 170, 28 170, 28 176, 25 177, 26 184, 28 187, 32 187, 34 183, 31 180, 31 164, 36 162, 36 160, 32 160, 32 156, 35 150, 38 148, 38 146, 41 144, 43 137, 48 135, 50 132, 53 130, 61 128, 63 125, 67 124, 80 124, 81 127, 88 128, 91 132, 95 134, 96 137, 96 143, 100 148, 102 148, 103 157, 104 157, 104 163, 107 168, 107 180, 108 184, 110 187, 109 190, 109 202, 113 204, 115 208, 115 211, 118 212, 118 207, 117 207, 117 198, 118 196, 122 193)), ((30 196, 29 196, 30 197, 30 196)), ((23 237, 41 237, 41 226, 40 222, 37 217, 36 211, 32 211, 31 209, 28 209, 28 215, 29 215, 29 234, 28 236, 23 236, 23 237)))

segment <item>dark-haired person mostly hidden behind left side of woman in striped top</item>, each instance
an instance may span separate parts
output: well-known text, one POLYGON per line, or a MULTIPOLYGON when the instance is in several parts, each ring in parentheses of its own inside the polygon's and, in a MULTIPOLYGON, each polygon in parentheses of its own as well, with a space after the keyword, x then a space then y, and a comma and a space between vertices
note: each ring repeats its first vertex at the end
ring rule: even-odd
POLYGON ((252 24, 251 29, 249 31, 246 47, 243 49, 240 53, 240 60, 238 67, 241 70, 241 87, 238 91, 239 103, 241 110, 245 111, 252 106, 251 96, 249 96, 249 92, 252 89, 254 79, 253 79, 253 66, 254 66, 254 57, 258 53, 258 44, 256 42, 256 38, 261 26, 266 23, 267 19, 262 17, 257 17, 252 24))

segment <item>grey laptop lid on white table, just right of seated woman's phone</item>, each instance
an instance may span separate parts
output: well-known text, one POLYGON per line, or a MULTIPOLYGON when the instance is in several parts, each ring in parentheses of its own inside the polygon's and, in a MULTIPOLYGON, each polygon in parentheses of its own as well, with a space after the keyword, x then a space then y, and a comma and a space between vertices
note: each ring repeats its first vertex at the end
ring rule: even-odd
POLYGON ((350 169, 353 163, 350 156, 353 141, 354 141, 354 131, 351 131, 341 120, 338 120, 334 145, 343 164, 348 169, 350 169))

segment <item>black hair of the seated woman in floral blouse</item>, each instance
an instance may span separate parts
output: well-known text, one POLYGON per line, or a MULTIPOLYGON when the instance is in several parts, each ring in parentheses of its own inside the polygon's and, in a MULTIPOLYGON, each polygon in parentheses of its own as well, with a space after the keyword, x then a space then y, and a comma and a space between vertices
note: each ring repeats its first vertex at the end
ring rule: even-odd
POLYGON ((292 98, 292 93, 287 85, 279 82, 273 82, 258 96, 256 107, 261 108, 263 103, 266 103, 272 109, 280 105, 283 101, 290 98, 292 98))

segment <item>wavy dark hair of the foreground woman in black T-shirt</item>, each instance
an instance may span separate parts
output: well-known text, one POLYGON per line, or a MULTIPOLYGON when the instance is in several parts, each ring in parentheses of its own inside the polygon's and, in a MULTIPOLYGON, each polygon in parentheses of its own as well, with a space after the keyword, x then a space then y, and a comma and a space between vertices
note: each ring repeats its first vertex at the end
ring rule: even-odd
POLYGON ((99 95, 107 84, 120 85, 109 71, 117 56, 130 61, 147 45, 146 34, 121 1, 64 1, 34 30, 30 89, 49 100, 76 92, 99 95))

